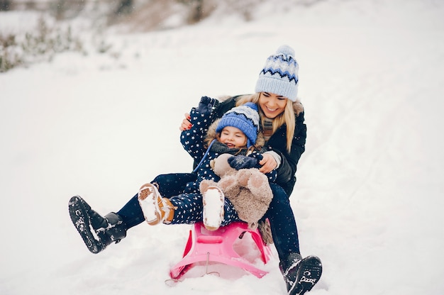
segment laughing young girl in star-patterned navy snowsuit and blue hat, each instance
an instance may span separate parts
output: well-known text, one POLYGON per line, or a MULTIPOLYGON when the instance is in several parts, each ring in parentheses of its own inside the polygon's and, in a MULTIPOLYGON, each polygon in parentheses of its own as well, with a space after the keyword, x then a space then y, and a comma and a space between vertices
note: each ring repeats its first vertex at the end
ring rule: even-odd
MULTIPOLYGON (((225 199, 218 187, 210 187, 204 196, 201 196, 199 184, 204 179, 215 182, 220 180, 210 165, 211 160, 218 155, 249 155, 246 160, 256 160, 258 163, 257 157, 262 157, 259 153, 260 147, 265 141, 261 134, 257 136, 259 114, 256 104, 247 103, 232 108, 221 119, 212 123, 213 110, 207 106, 215 101, 206 96, 202 97, 199 107, 192 108, 191 111, 192 128, 182 131, 181 142, 184 149, 194 160, 200 161, 194 169, 196 180, 186 184, 184 194, 162 198, 154 184, 144 184, 140 188, 138 201, 148 224, 203 221, 207 229, 216 230, 221 225, 240 220, 235 208, 225 199)), ((270 181, 276 178, 275 172, 267 176, 270 181)))

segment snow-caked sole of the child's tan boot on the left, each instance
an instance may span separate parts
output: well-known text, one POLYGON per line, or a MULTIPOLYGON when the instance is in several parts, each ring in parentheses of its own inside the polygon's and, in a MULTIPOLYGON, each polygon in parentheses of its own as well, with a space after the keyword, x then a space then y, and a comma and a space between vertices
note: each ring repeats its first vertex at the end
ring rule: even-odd
POLYGON ((139 191, 138 201, 140 208, 142 208, 145 221, 150 226, 155 226, 162 221, 159 206, 159 193, 156 187, 152 184, 144 184, 139 191), (147 214, 148 213, 148 214, 147 214), (150 216, 154 213, 154 216, 150 216), (147 217, 148 216, 148 217, 147 217))

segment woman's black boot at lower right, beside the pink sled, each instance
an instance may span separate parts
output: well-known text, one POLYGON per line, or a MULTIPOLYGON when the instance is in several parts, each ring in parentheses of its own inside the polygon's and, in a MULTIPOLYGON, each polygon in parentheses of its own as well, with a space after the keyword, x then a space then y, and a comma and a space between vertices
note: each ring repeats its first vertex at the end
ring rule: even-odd
POLYGON ((303 259, 300 254, 292 253, 286 261, 279 263, 279 267, 287 282, 289 295, 302 295, 310 291, 322 274, 322 263, 316 256, 303 259))

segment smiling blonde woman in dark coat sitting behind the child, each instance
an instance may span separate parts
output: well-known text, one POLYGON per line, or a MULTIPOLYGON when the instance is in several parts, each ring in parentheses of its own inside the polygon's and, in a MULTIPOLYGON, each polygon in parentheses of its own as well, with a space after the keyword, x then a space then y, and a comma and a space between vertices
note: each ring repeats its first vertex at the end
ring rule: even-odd
MULTIPOLYGON (((234 106, 248 101, 258 106, 262 133, 269 150, 260 161, 260 171, 267 173, 277 169, 276 184, 270 184, 273 199, 264 218, 270 221, 273 242, 279 255, 279 267, 290 295, 310 291, 322 273, 318 257, 309 256, 303 259, 300 255, 296 221, 289 204, 289 196, 296 182, 296 165, 305 150, 306 140, 304 108, 296 99, 297 72, 294 50, 281 46, 265 62, 255 87, 256 94, 235 96, 209 106, 214 110, 214 118, 220 118, 234 106)), ((188 118, 185 118, 181 130, 189 129, 190 124, 188 118)), ((195 167, 196 165, 197 161, 194 163, 195 167)), ((187 182, 195 179, 195 174, 163 174, 152 183, 157 183, 160 194, 167 197, 179 194, 187 182)), ((145 220, 137 196, 128 201, 120 211, 109 213, 104 218, 84 203, 89 211, 91 226, 100 239, 101 248, 98 252, 112 242, 118 243, 125 238, 128 228, 145 220)))

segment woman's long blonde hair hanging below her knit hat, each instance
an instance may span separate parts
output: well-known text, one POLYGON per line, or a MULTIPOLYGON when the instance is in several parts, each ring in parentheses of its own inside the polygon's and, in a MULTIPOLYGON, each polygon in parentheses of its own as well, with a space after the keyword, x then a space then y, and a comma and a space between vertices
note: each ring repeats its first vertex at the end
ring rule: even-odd
MULTIPOLYGON (((238 101, 236 102, 236 106, 243 105, 247 102, 252 102, 255 104, 259 104, 259 97, 260 93, 251 94, 251 95, 244 95, 240 96, 238 101)), ((292 150, 292 141, 293 141, 293 135, 294 135, 294 128, 296 126, 295 123, 295 109, 296 107, 294 104, 300 104, 299 101, 293 102, 289 99, 287 99, 287 104, 285 105, 285 109, 282 113, 279 114, 276 118, 272 119, 272 134, 276 132, 276 130, 281 127, 282 125, 286 124, 287 126, 287 152, 290 152, 292 150)), ((259 115, 262 119, 265 114, 262 112, 261 108, 259 107, 259 115)), ((264 128, 264 121, 261 120, 262 123, 262 129, 264 128)))

